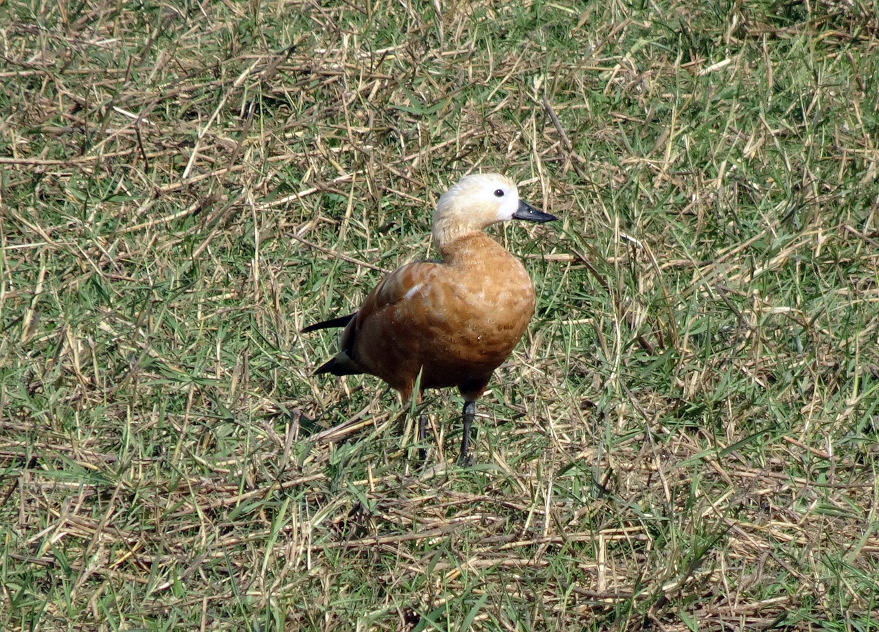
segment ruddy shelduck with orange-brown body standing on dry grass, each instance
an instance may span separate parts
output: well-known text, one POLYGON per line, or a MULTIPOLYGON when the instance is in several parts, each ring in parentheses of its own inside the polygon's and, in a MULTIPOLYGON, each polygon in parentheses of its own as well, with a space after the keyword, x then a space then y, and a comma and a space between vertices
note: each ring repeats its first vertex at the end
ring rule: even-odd
MULTIPOLYGON (((342 350, 316 374, 376 375, 404 400, 416 387, 419 401, 425 389, 458 387, 464 397, 459 462, 468 462, 476 399, 534 315, 534 284, 525 267, 482 232, 513 219, 556 217, 519 200, 509 178, 461 178, 439 198, 433 214, 433 243, 441 259, 397 268, 357 312, 302 330, 345 327, 342 350)), ((420 439, 425 421, 422 416, 420 439)))

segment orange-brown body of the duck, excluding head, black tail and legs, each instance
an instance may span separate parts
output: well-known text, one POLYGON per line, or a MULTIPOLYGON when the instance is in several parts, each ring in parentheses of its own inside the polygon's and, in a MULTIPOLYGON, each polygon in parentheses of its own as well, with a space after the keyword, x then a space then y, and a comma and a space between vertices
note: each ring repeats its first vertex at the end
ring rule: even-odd
POLYGON ((365 373, 409 397, 457 386, 482 395, 534 314, 534 286, 519 260, 482 233, 456 239, 443 261, 403 265, 367 296, 343 347, 365 373), (352 338, 353 337, 353 338, 352 338))

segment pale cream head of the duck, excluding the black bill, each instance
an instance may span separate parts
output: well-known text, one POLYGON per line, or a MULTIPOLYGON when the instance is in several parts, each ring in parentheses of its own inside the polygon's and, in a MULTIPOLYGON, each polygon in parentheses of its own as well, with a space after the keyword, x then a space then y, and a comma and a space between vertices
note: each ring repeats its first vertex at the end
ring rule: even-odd
POLYGON ((498 173, 464 176, 437 202, 433 241, 441 251, 458 237, 512 220, 518 208, 519 190, 510 178, 498 173))

